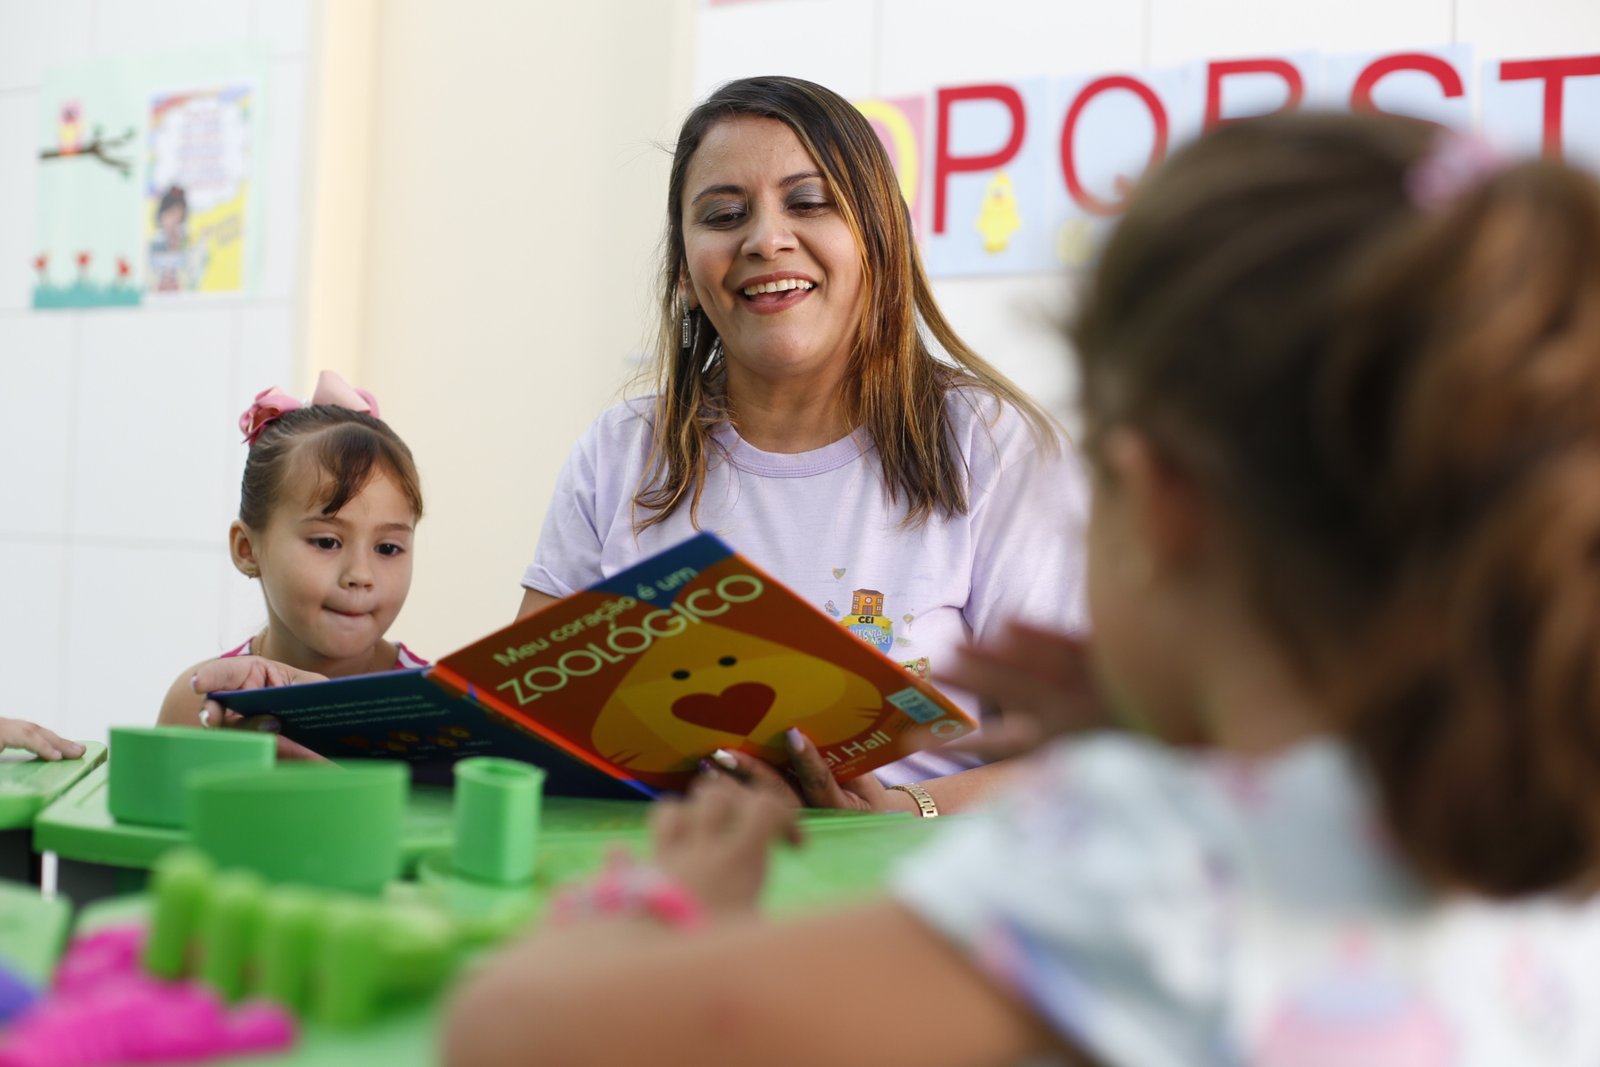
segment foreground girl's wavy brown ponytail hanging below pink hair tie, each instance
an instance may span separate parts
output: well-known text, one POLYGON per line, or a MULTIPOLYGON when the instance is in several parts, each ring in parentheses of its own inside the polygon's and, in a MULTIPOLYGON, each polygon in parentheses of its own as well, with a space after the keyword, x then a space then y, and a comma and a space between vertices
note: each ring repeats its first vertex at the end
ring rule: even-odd
POLYGON ((1600 189, 1424 210, 1355 283, 1328 426, 1392 545, 1349 737, 1394 843, 1491 896, 1600 872, 1600 189), (1358 435, 1358 437, 1357 437, 1358 435))

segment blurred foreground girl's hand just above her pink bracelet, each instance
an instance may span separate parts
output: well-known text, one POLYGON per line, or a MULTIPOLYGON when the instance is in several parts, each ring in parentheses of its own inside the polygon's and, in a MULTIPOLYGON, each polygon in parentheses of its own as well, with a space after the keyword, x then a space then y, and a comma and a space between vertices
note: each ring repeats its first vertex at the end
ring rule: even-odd
POLYGON ((714 917, 755 907, 770 841, 800 843, 794 808, 722 776, 701 776, 685 800, 656 801, 650 832, 656 865, 714 917))

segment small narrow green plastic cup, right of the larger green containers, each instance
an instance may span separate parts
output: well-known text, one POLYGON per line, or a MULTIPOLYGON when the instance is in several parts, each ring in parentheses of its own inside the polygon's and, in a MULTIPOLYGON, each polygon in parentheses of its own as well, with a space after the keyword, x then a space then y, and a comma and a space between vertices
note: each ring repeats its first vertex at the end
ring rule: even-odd
POLYGON ((456 763, 456 873, 499 886, 533 881, 544 769, 518 760, 456 763))

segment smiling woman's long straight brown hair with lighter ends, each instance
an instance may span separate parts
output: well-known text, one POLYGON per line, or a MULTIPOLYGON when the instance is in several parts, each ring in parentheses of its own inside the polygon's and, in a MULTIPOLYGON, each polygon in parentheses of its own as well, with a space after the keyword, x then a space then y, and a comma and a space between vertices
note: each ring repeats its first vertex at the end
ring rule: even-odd
POLYGON ((829 186, 861 251, 866 307, 856 331, 846 414, 872 437, 890 499, 904 496, 909 525, 934 514, 966 510, 962 456, 947 432, 946 395, 974 386, 1018 408, 1045 448, 1058 429, 1000 371, 955 334, 933 301, 933 288, 912 240, 910 216, 894 168, 870 123, 850 101, 813 82, 784 77, 741 78, 690 112, 678 133, 667 182, 667 234, 661 261, 661 326, 656 354, 654 448, 648 485, 634 504, 646 512, 640 530, 662 522, 685 501, 693 515, 718 424, 730 419, 722 394, 722 338, 682 291, 683 182, 690 160, 720 122, 774 118, 789 126, 829 186), (690 315, 690 344, 682 322, 690 315), (936 358, 923 330, 949 355, 936 358))

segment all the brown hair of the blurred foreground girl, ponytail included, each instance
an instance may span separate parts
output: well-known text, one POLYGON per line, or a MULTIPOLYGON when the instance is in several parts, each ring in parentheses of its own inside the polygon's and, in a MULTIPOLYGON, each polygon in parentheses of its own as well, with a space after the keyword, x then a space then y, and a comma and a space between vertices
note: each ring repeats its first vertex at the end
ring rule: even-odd
POLYGON ((1446 203, 1435 126, 1280 115, 1160 168, 1074 328, 1096 434, 1219 501, 1397 848, 1491 896, 1600 870, 1600 189, 1446 203))

